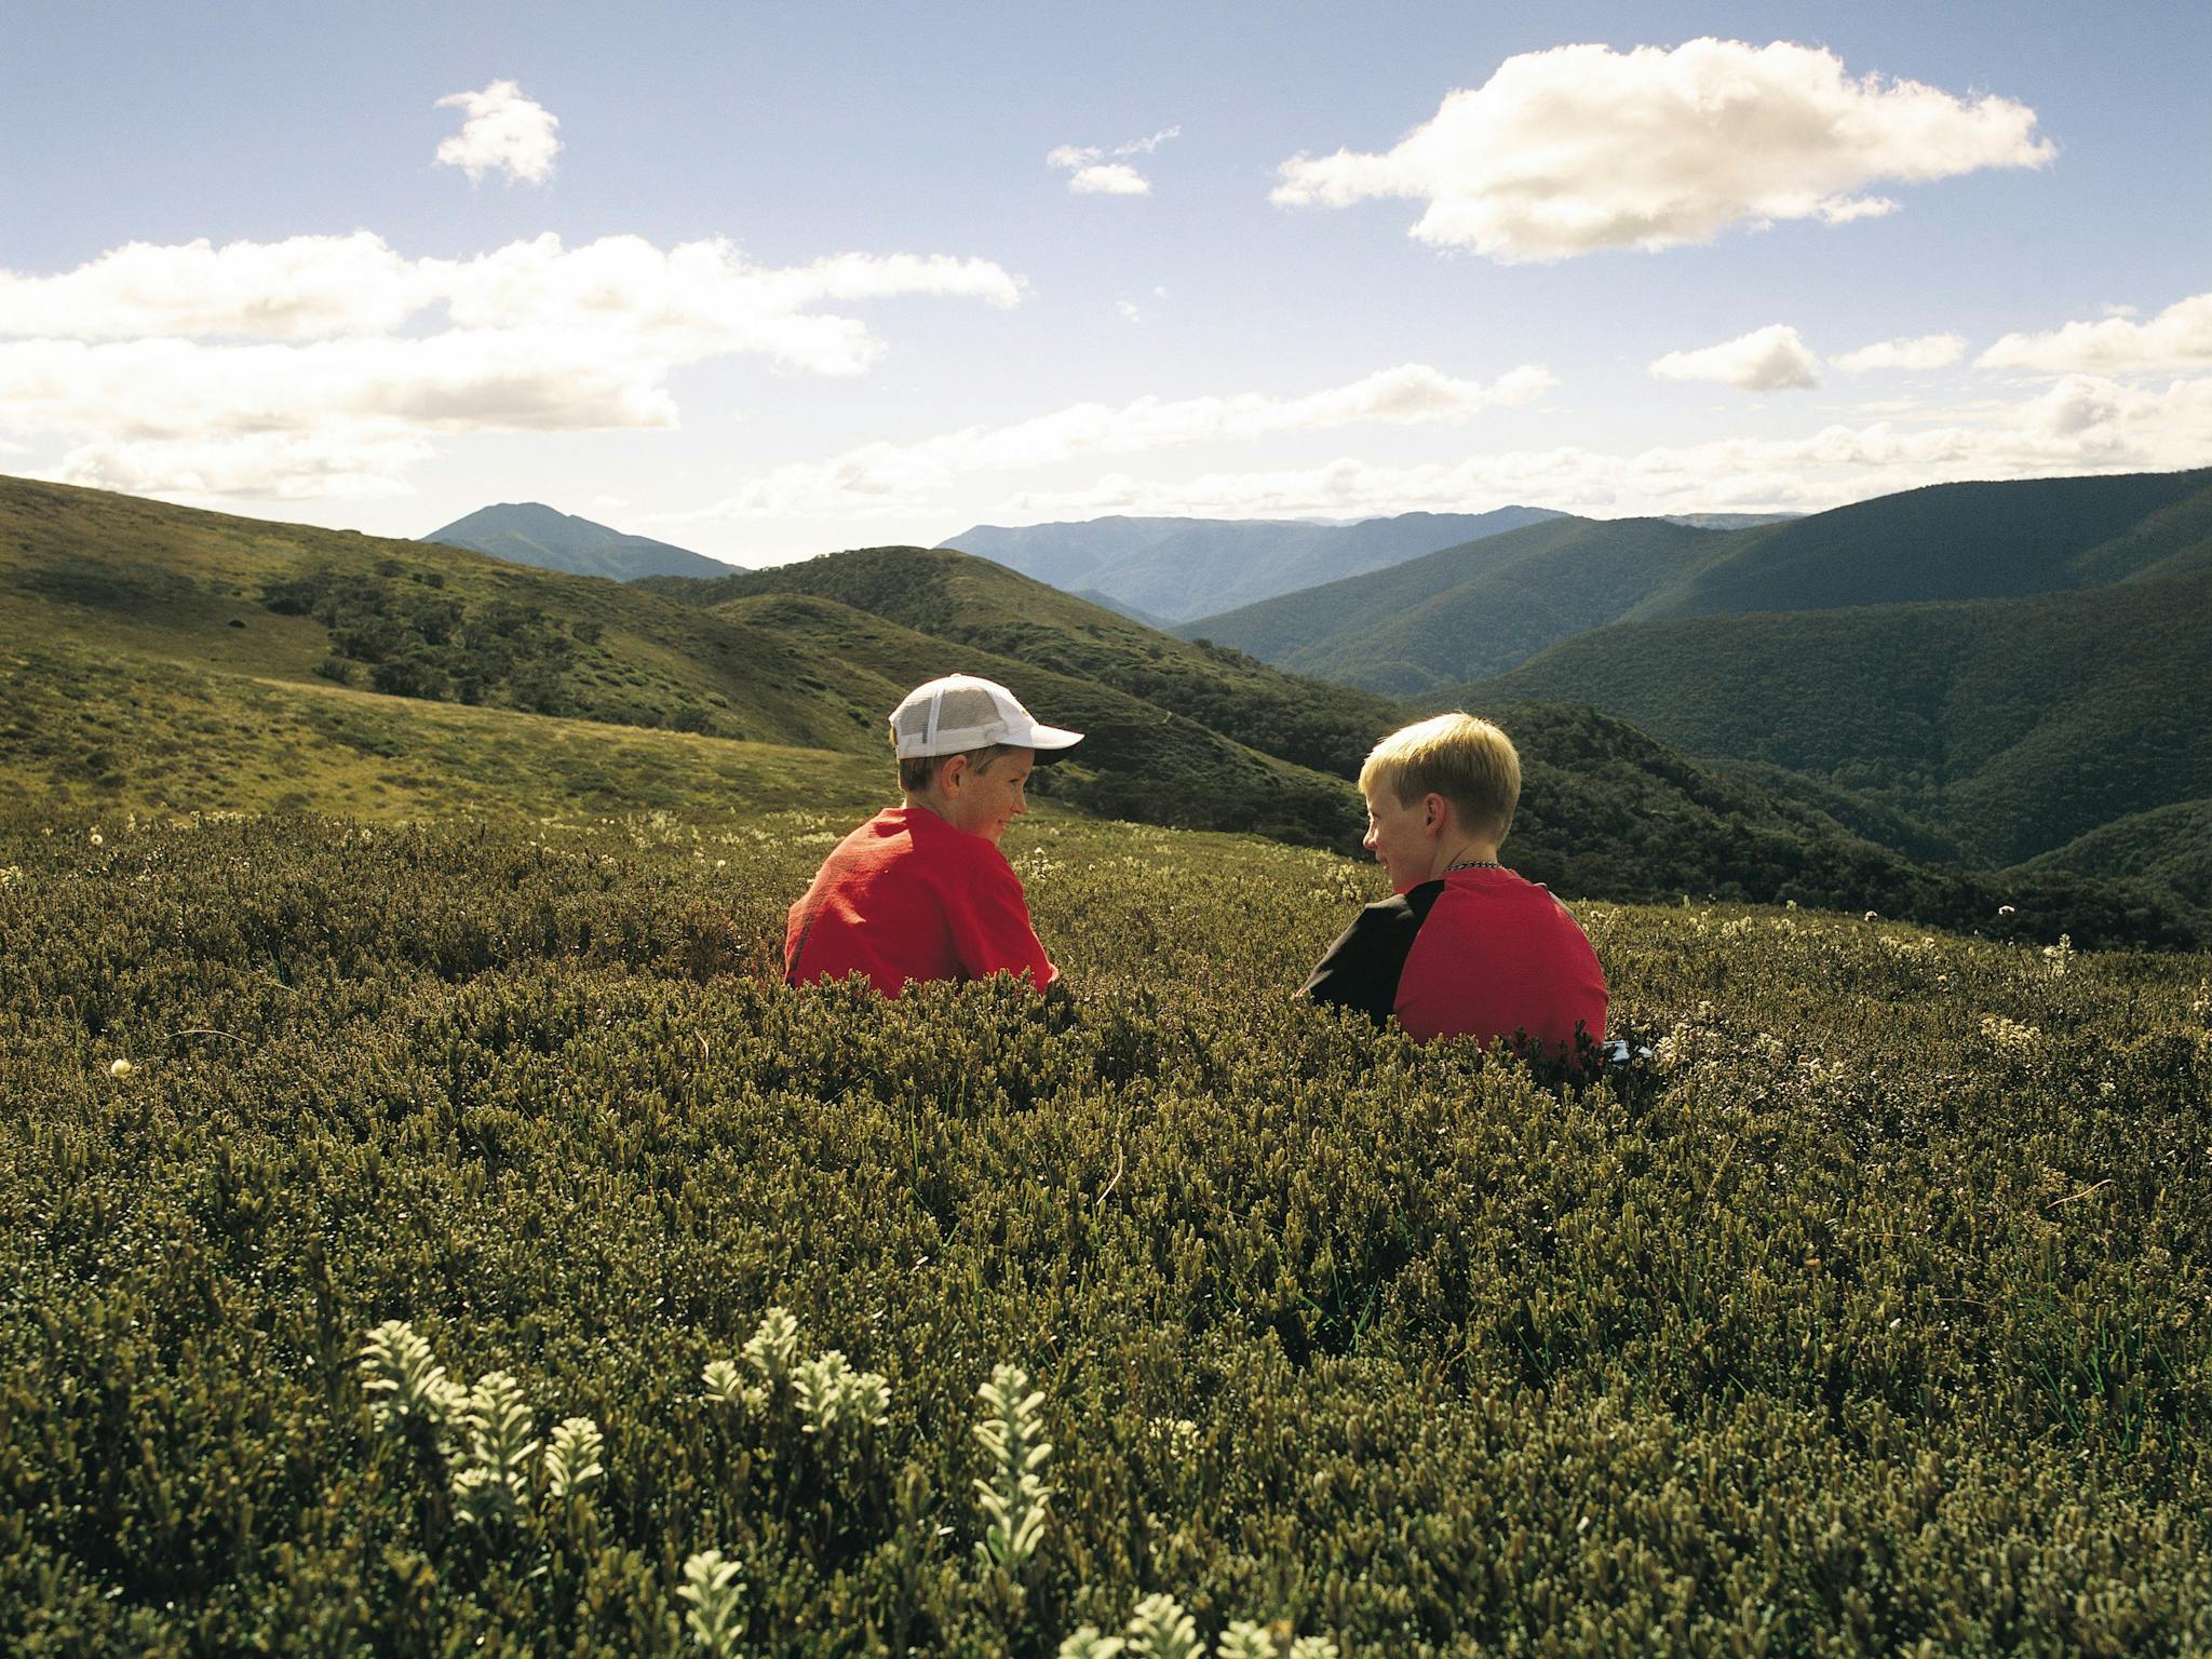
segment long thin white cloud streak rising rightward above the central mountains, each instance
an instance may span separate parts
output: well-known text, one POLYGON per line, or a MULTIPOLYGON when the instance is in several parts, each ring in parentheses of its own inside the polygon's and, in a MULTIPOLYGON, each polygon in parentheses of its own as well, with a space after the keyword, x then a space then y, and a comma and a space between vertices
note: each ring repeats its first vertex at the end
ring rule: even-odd
POLYGON ((1259 392, 1212 398, 1137 398, 1119 407, 1077 403, 1006 427, 964 427, 920 442, 876 442, 752 480, 737 495, 670 522, 708 518, 838 518, 911 511, 916 500, 967 473, 1024 471, 1084 456, 1128 456, 1201 442, 1256 440, 1352 425, 1458 422, 1491 407, 1524 407, 1557 385, 1524 363, 1489 385, 1427 363, 1327 387, 1301 398, 1259 392))

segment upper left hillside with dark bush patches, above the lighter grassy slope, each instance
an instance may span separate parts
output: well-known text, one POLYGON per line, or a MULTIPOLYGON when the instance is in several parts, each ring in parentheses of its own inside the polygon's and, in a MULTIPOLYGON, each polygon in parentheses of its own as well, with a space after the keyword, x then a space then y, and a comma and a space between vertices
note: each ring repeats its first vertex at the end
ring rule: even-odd
POLYGON ((0 480, 0 626, 135 659, 858 750, 843 666, 633 586, 0 480))

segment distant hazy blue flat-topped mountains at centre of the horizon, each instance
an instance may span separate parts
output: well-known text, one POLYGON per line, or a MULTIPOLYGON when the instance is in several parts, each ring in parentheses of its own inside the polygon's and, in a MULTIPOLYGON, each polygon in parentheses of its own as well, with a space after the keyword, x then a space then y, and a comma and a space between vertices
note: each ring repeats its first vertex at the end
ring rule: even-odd
POLYGON ((1004 564, 1064 591, 1091 591, 1146 617, 1190 617, 1458 546, 1555 518, 1542 507, 1400 513, 1358 524, 1217 518, 1097 518, 1002 529, 975 524, 938 546, 1004 564))

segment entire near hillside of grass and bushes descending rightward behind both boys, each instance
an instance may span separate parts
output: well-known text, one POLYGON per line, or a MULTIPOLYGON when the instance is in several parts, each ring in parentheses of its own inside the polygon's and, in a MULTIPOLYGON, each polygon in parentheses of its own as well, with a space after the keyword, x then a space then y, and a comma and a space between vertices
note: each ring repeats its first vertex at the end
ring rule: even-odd
MULTIPOLYGON (((1407 714, 949 551, 613 584, 22 480, 0 480, 0 781, 46 821, 849 814, 889 794, 885 712, 967 668, 1086 732, 1040 772, 1046 810, 1352 852, 1347 772, 1407 714)), ((1528 752, 1513 858, 1562 891, 1874 905, 2077 942, 2208 929, 2097 872, 1924 865, 1847 830, 1812 785, 1692 761, 1593 710, 1511 721, 1528 752)))

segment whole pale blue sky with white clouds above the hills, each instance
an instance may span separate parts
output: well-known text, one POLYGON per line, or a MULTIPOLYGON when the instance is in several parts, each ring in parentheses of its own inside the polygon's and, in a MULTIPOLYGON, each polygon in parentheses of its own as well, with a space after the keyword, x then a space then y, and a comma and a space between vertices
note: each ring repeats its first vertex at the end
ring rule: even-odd
POLYGON ((4 22, 0 471, 759 564, 2212 465, 2203 7, 4 22))

